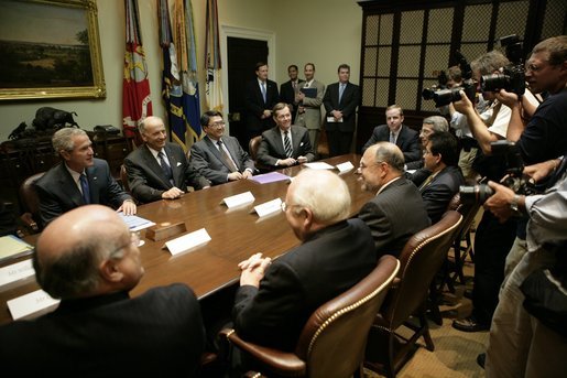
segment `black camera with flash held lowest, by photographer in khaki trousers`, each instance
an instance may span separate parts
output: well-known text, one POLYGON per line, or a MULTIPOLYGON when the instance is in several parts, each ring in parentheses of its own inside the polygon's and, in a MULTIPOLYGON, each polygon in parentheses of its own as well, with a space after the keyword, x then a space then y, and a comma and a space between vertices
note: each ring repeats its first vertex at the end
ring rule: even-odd
MULTIPOLYGON (((530 195, 539 192, 534 183, 524 179, 524 161, 515 143, 508 140, 499 140, 491 142, 490 145, 492 154, 503 156, 505 161, 506 177, 501 182, 502 185, 510 187, 517 194, 530 195)), ((494 194, 494 191, 487 184, 461 185, 459 190, 460 199, 469 203, 477 201, 483 204, 488 197, 494 194)))

